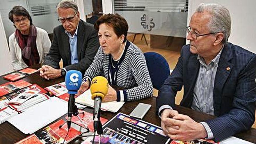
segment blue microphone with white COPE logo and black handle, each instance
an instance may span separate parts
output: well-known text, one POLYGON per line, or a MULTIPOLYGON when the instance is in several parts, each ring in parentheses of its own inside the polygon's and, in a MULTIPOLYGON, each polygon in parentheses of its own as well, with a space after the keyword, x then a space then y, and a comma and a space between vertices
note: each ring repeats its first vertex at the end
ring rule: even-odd
POLYGON ((71 118, 74 113, 75 94, 79 90, 82 83, 82 73, 77 70, 69 70, 66 73, 65 83, 69 94, 68 110, 67 110, 67 128, 70 129, 71 118))

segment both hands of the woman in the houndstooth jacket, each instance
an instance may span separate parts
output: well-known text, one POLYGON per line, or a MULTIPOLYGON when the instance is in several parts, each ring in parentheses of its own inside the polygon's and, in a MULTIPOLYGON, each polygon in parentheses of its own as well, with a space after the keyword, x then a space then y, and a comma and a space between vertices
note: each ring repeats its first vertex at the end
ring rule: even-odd
MULTIPOLYGON (((89 81, 84 82, 81 87, 78 90, 77 95, 81 95, 82 93, 84 93, 86 90, 88 90, 89 88, 89 81)), ((117 95, 116 95, 116 91, 115 89, 113 89, 110 85, 109 85, 109 89, 108 89, 108 93, 105 95, 104 99, 102 100, 102 102, 111 102, 111 101, 116 101, 117 100, 117 95)))

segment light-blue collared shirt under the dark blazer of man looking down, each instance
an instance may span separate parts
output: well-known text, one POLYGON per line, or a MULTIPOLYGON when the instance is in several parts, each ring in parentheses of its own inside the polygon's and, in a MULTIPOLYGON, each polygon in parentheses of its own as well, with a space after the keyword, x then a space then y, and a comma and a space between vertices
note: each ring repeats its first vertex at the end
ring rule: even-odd
POLYGON ((78 25, 77 25, 76 32, 74 33, 73 36, 69 32, 65 31, 65 33, 69 37, 69 45, 70 45, 70 52, 71 52, 71 55, 70 55, 71 64, 78 63, 78 55, 77 55, 77 30, 78 30, 78 25))

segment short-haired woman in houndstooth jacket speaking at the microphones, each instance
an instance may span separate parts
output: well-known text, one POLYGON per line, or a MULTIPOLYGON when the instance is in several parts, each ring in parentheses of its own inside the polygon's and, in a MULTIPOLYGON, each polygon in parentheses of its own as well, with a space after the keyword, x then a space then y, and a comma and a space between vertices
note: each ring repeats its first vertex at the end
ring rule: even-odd
POLYGON ((78 95, 89 88, 94 77, 103 75, 110 84, 103 102, 134 101, 152 96, 153 86, 145 57, 126 39, 126 20, 118 14, 106 14, 96 21, 94 28, 98 31, 100 47, 85 72, 85 82, 78 95))

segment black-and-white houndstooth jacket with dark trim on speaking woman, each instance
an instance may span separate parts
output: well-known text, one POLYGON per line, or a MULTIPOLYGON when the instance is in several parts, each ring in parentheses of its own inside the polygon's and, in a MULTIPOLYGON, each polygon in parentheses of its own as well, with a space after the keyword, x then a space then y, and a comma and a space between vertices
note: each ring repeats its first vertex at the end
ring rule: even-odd
MULTIPOLYGON (((120 61, 115 85, 124 90, 117 90, 117 101, 134 101, 152 96, 152 82, 142 51, 127 40, 124 59, 120 61)), ((109 73, 110 54, 104 54, 101 47, 86 70, 83 79, 90 82, 96 76, 104 76, 111 83, 109 73)))

